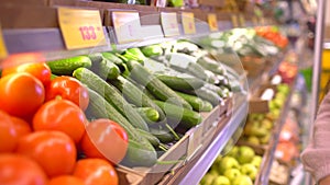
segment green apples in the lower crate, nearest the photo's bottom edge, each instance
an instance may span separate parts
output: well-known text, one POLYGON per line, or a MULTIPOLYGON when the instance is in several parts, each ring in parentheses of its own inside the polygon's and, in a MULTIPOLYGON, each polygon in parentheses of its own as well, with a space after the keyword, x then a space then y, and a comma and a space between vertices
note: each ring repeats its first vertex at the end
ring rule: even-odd
POLYGON ((200 185, 253 185, 262 157, 248 146, 234 146, 227 155, 219 155, 200 185))

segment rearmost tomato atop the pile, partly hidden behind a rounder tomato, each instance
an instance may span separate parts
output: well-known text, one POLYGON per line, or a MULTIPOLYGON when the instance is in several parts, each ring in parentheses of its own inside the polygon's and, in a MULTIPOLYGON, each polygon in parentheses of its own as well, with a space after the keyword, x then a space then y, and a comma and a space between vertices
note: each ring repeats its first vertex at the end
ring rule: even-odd
POLYGON ((2 77, 16 72, 28 72, 37 78, 44 85, 51 82, 52 71, 45 62, 30 62, 4 68, 2 70, 2 77))

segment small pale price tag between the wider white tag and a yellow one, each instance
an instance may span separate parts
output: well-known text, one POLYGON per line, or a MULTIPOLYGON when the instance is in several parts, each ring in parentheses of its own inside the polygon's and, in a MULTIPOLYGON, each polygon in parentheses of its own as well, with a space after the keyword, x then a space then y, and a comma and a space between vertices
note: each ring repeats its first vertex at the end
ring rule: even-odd
POLYGON ((175 12, 162 12, 161 22, 166 37, 177 36, 180 34, 177 24, 177 14, 175 12))

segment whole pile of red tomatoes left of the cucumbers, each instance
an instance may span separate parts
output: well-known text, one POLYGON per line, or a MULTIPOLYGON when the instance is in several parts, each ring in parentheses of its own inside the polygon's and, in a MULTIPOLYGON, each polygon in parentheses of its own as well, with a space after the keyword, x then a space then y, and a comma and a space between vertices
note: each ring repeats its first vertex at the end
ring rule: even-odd
POLYGON ((86 118, 89 96, 78 80, 51 78, 44 62, 2 70, 0 184, 119 184, 114 165, 128 149, 125 130, 86 118))

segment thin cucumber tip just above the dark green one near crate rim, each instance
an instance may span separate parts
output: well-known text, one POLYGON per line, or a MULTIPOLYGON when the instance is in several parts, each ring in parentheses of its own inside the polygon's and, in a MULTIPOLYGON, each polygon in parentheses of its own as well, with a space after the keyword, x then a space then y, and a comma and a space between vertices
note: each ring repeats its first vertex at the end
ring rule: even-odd
POLYGON ((212 111, 212 105, 211 103, 204 101, 195 95, 190 95, 190 94, 185 94, 182 92, 176 92, 179 96, 182 96, 183 99, 185 99, 191 106, 194 111, 197 112, 210 112, 212 111))

